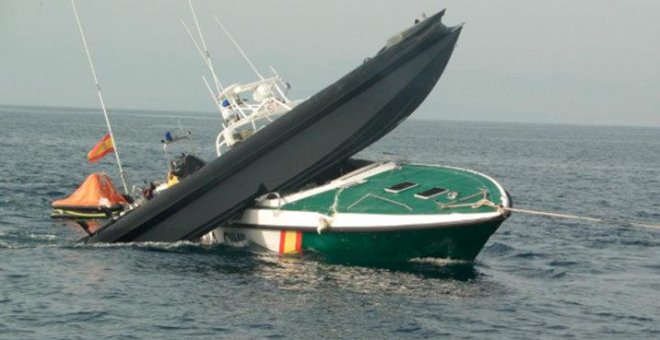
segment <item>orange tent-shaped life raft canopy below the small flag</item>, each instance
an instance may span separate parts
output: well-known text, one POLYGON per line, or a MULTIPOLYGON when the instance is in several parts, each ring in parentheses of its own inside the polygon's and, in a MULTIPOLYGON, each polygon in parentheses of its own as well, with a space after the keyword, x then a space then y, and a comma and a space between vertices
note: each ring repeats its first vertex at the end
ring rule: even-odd
POLYGON ((127 203, 108 175, 95 172, 87 176, 73 194, 53 201, 52 206, 53 209, 116 210, 127 203))

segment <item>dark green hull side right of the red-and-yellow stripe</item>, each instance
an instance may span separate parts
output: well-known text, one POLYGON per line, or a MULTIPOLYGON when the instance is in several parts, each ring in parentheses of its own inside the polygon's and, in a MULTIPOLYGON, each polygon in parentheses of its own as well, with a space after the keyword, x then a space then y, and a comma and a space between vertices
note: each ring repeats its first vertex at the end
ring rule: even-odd
POLYGON ((500 224, 502 220, 436 229, 305 232, 302 250, 319 253, 332 263, 396 263, 425 257, 473 261, 500 224))

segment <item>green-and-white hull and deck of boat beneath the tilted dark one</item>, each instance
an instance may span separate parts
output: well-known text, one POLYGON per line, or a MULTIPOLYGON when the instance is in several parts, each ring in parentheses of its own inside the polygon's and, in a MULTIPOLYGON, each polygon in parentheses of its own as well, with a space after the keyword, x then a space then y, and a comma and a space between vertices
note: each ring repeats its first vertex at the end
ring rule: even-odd
POLYGON ((325 184, 264 195, 202 241, 341 263, 472 261, 509 216, 502 186, 472 170, 356 160, 347 167, 355 170, 325 184))

